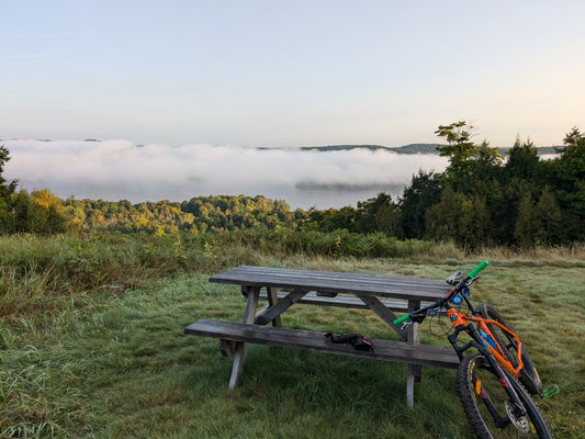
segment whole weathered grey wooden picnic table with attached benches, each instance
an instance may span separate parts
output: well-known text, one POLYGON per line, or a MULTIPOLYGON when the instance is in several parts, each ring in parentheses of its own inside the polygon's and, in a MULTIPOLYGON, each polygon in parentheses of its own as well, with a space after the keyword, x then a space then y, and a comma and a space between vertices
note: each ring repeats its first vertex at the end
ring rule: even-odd
POLYGON ((452 348, 420 344, 418 324, 407 328, 393 324, 397 318, 394 312, 415 311, 421 302, 445 296, 450 286, 443 280, 240 266, 211 277, 210 282, 240 285, 247 299, 243 323, 200 319, 184 334, 220 338, 222 353, 234 353, 229 389, 243 373, 250 342, 406 363, 410 407, 423 365, 455 369, 459 364, 452 348), (258 309, 259 301, 268 303, 258 309), (403 341, 373 339, 373 350, 356 350, 350 345, 333 344, 326 333, 282 327, 282 314, 294 304, 371 309, 403 341))

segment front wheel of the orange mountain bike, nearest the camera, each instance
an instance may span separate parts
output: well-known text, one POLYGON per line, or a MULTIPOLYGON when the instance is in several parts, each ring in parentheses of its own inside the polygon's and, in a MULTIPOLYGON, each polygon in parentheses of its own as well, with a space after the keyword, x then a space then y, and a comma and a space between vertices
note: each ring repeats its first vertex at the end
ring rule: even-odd
POLYGON ((465 357, 459 364, 457 387, 463 412, 480 439, 552 438, 540 409, 524 386, 504 372, 522 403, 525 414, 511 402, 484 356, 465 357))

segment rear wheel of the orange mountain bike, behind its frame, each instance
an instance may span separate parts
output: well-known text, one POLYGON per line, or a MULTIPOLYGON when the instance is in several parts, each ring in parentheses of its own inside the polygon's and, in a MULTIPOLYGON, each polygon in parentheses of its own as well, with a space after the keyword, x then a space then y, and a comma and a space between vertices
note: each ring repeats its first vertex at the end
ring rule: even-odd
MULTIPOLYGON (((476 309, 483 318, 496 320, 497 323, 509 328, 509 325, 506 323, 506 320, 504 320, 504 317, 502 317, 492 305, 488 305, 486 303, 480 303, 476 309)), ((518 365, 518 344, 516 342, 514 337, 503 330, 499 326, 494 325, 493 323, 488 323, 486 325, 490 328, 490 331, 494 335, 494 338, 496 339, 497 344, 500 346, 506 359, 516 368, 518 365)), ((540 380, 535 363, 530 359, 530 356, 528 354, 524 346, 521 347, 521 350, 524 370, 529 378, 519 376, 518 380, 520 381, 520 383, 522 383, 522 385, 528 392, 535 395, 539 392, 542 392, 542 381, 540 380)))

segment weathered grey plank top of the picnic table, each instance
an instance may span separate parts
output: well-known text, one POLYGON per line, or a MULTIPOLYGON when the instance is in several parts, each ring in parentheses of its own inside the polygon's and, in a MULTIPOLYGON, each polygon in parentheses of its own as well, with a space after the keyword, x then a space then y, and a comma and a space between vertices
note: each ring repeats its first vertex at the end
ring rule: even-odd
POLYGON ((445 280, 437 279, 255 266, 239 266, 212 275, 210 282, 430 302, 451 290, 445 280))

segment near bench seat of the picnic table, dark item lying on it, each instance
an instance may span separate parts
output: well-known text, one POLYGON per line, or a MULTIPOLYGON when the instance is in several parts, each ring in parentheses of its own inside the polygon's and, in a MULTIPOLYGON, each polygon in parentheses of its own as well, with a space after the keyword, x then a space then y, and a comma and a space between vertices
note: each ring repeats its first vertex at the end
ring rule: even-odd
POLYGON ((373 352, 359 351, 350 345, 330 342, 325 337, 325 333, 312 330, 202 319, 188 326, 184 333, 259 345, 439 368, 455 369, 459 364, 459 358, 451 348, 430 345, 413 346, 404 341, 373 339, 373 352))

